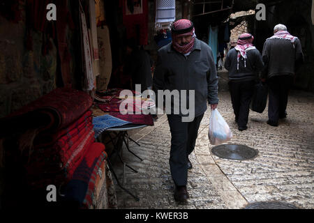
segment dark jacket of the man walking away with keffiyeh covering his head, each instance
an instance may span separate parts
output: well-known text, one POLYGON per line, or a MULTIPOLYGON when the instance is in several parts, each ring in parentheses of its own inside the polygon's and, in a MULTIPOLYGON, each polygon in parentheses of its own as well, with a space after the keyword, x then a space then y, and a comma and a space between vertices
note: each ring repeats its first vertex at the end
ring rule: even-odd
POLYGON ((244 66, 244 58, 241 56, 239 60, 239 70, 237 70, 236 49, 230 49, 225 59, 225 68, 229 71, 229 79, 233 82, 250 81, 258 79, 258 74, 264 68, 262 55, 257 49, 251 49, 246 53, 246 67, 244 66))

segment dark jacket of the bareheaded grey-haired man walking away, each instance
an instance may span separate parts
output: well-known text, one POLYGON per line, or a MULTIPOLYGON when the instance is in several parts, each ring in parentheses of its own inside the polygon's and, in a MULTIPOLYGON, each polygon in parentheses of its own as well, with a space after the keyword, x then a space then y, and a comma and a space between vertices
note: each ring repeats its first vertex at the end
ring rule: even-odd
POLYGON ((262 59, 265 63, 263 78, 294 75, 304 61, 300 40, 268 39, 264 43, 262 59))

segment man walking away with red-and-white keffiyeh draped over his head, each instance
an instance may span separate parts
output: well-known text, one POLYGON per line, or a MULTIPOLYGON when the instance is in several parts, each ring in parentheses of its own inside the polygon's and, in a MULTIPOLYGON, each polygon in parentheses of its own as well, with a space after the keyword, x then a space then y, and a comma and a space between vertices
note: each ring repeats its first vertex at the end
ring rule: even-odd
POLYGON ((235 122, 239 131, 246 130, 254 85, 264 64, 260 52, 253 46, 250 33, 239 36, 237 46, 227 54, 225 68, 229 71, 229 89, 235 122))

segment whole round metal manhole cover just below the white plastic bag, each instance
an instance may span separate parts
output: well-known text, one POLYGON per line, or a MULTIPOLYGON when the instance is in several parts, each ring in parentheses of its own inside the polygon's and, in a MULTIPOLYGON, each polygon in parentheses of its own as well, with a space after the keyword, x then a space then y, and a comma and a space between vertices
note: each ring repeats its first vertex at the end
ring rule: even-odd
POLYGON ((220 158, 230 160, 250 160, 258 153, 257 150, 248 146, 230 144, 215 146, 211 152, 220 158))

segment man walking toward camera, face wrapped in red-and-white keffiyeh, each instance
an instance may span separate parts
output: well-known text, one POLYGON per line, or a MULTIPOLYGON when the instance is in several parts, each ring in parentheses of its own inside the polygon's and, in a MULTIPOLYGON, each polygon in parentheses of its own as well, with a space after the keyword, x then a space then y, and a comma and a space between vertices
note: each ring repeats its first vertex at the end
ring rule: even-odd
MULTIPOLYGON (((166 96, 165 105, 171 104, 171 112, 167 112, 167 107, 166 112, 172 137, 169 161, 175 185, 174 199, 186 202, 189 197, 186 190, 188 169, 192 168, 188 155, 194 150, 197 131, 207 105, 211 105, 211 109, 216 109, 218 105, 218 77, 211 48, 196 38, 193 22, 178 20, 172 24, 171 31, 172 43, 158 50, 153 90, 156 97, 159 90, 179 91, 181 94, 179 103, 166 96), (189 104, 191 99, 194 105, 189 104), (189 112, 193 109, 193 120, 184 121, 187 115, 181 105, 188 107, 189 112), (179 114, 176 108, 179 108, 179 114)), ((156 100, 156 107, 163 110, 160 104, 156 100)))

